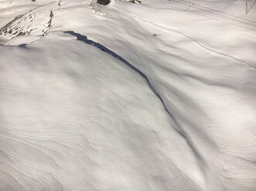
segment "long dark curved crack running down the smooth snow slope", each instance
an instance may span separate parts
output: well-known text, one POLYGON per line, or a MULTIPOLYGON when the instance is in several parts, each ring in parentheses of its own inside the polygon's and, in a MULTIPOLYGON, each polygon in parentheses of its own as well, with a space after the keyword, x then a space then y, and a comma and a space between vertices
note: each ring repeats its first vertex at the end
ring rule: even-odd
MULTIPOLYGON (((114 58, 119 59, 121 62, 123 62, 125 65, 128 65, 129 68, 133 69, 135 72, 137 72, 139 75, 142 76, 143 79, 145 79, 145 81, 148 83, 149 88, 152 90, 152 92, 154 92, 154 94, 156 95, 156 97, 159 98, 160 102, 162 102, 162 106, 165 108, 166 112, 168 113, 168 115, 172 118, 173 122, 175 122, 176 126, 179 129, 176 129, 176 132, 179 133, 180 136, 183 136, 183 138, 186 140, 186 142, 188 143, 188 145, 191 147, 191 149, 193 150, 193 152, 195 153, 196 156, 200 157, 200 154, 194 149, 193 143, 189 142, 189 140, 187 139, 186 133, 183 131, 183 129, 179 126, 179 123, 177 122, 177 120, 175 119, 174 116, 172 116, 172 113, 169 112, 169 109, 166 107, 165 102, 163 102, 162 97, 159 95, 158 92, 156 92, 155 88, 153 87, 152 83, 149 81, 147 75, 145 75, 145 73, 143 73, 141 70, 137 69, 134 65, 131 65, 130 62, 128 62, 126 59, 122 58, 120 55, 116 54, 115 52, 111 51, 110 49, 108 49, 107 47, 105 47, 104 45, 101 45, 100 43, 94 42, 90 39, 87 39, 86 35, 80 35, 77 32, 73 32, 73 31, 66 31, 64 33, 68 33, 70 35, 74 35, 77 37, 77 40, 82 41, 87 43, 88 45, 94 45, 97 49, 101 49, 102 51, 108 53, 109 55, 114 56, 114 58)), ((200 159, 202 159, 202 157, 200 157, 200 159)))

